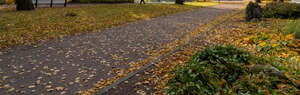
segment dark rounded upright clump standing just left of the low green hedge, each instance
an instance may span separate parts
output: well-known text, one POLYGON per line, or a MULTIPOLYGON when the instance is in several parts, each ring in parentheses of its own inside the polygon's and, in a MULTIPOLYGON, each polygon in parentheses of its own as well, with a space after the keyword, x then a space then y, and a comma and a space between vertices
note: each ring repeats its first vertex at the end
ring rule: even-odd
POLYGON ((257 3, 250 2, 246 8, 246 21, 261 19, 262 9, 257 3))

